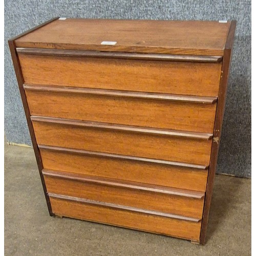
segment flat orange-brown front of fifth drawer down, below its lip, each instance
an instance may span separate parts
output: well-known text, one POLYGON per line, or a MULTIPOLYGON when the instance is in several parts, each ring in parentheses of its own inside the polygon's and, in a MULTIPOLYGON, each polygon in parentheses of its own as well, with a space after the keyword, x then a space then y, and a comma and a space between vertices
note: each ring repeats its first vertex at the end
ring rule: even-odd
MULTIPOLYGON (((67 177, 72 177, 67 175, 67 177)), ((201 220, 204 197, 201 199, 157 193, 142 189, 131 189, 117 185, 97 184, 44 175, 48 193, 87 200, 155 210, 167 214, 181 215, 201 220)), ((137 183, 136 183, 137 184, 137 183)), ((122 184, 121 184, 122 185, 122 184)))

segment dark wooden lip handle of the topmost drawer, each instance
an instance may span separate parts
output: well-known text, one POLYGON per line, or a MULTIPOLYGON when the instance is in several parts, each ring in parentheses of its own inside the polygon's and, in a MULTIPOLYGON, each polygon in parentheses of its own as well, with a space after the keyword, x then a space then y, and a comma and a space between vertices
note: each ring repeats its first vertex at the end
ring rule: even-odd
POLYGON ((204 55, 176 55, 157 53, 127 53, 127 52, 107 52, 107 51, 87 51, 87 50, 60 50, 44 48, 16 48, 18 53, 46 56, 63 57, 92 57, 92 58, 113 58, 113 59, 133 59, 133 60, 157 60, 157 61, 182 61, 182 62, 208 62, 217 63, 222 61, 222 56, 204 55))

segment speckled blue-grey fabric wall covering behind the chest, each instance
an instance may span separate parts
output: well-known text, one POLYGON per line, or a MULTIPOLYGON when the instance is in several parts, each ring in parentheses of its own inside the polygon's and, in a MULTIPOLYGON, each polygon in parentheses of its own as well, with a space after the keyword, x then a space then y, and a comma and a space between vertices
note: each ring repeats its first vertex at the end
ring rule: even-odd
POLYGON ((242 0, 8 0, 5 1, 5 135, 30 144, 7 39, 55 17, 236 19, 218 173, 251 176, 251 3, 242 0))

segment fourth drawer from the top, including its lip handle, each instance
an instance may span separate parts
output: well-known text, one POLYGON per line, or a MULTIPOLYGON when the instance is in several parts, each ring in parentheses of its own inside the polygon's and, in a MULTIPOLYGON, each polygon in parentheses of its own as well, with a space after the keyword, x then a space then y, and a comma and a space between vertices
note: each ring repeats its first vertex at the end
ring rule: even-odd
POLYGON ((203 165, 38 146, 45 169, 203 192, 206 188, 208 170, 203 165))

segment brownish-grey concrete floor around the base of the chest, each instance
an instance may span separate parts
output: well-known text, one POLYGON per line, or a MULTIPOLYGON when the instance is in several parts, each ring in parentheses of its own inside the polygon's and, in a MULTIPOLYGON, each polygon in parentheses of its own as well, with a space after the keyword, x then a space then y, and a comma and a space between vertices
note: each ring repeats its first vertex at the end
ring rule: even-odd
POLYGON ((250 255, 251 180, 217 175, 204 246, 48 214, 32 148, 5 146, 5 255, 250 255))

